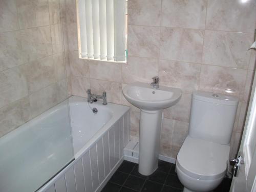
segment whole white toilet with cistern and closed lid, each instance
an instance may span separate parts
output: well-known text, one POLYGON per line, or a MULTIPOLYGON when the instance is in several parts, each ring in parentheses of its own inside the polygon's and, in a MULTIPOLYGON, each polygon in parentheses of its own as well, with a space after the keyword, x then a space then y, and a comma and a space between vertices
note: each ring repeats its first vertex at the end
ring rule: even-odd
POLYGON ((188 136, 176 161, 183 192, 210 191, 222 182, 237 106, 238 99, 232 96, 193 93, 188 136))

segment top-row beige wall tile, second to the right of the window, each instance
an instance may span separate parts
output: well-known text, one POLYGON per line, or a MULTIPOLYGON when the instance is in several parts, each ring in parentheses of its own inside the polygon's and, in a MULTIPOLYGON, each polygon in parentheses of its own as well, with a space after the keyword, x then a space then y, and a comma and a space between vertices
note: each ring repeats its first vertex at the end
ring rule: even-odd
POLYGON ((206 0, 163 0, 161 26, 204 29, 206 7, 206 0))

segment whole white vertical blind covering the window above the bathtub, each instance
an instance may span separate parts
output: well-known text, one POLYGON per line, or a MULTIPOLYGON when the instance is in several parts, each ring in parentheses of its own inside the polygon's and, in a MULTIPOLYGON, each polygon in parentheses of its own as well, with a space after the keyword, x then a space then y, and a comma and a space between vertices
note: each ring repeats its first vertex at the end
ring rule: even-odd
POLYGON ((78 0, 82 58, 125 61, 125 0, 78 0))

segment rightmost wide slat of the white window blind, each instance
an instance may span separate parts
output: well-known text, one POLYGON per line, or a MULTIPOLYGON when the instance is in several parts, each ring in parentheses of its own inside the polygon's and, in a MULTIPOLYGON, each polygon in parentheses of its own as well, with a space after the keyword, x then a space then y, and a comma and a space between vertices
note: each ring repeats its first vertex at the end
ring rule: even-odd
POLYGON ((125 60, 125 1, 114 0, 115 61, 125 60))

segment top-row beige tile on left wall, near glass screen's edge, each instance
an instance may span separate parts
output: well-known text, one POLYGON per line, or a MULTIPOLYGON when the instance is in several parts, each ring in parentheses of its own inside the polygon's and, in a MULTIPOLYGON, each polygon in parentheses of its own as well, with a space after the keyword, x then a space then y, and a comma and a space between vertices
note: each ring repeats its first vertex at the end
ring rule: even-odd
POLYGON ((49 0, 50 24, 60 24, 60 4, 59 0, 49 0))

